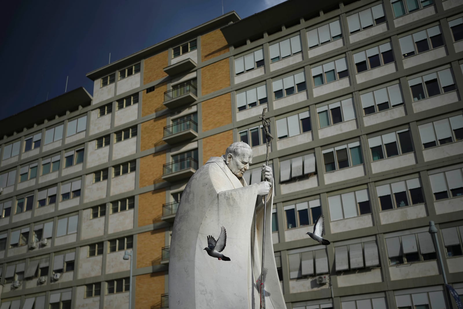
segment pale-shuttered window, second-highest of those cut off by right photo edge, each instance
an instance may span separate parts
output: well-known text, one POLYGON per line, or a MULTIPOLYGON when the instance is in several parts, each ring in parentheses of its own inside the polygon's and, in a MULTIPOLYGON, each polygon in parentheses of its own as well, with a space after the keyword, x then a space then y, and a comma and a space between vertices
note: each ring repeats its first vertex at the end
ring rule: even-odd
POLYGON ((453 116, 418 126, 423 149, 463 139, 463 116, 453 116))

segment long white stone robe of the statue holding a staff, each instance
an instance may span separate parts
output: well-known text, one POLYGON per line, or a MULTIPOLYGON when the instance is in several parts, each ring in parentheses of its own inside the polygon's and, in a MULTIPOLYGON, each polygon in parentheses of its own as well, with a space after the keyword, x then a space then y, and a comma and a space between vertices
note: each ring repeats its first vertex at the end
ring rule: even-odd
MULTIPOLYGON (((266 309, 286 309, 272 243, 272 201, 267 199, 264 286, 266 309)), ((169 257, 169 308, 260 308, 263 197, 225 163, 212 157, 188 181, 175 215, 169 257), (256 201, 258 200, 257 207, 256 201), (207 235, 227 233, 223 253, 207 254, 207 235), (257 228, 256 228, 257 227, 257 228)))

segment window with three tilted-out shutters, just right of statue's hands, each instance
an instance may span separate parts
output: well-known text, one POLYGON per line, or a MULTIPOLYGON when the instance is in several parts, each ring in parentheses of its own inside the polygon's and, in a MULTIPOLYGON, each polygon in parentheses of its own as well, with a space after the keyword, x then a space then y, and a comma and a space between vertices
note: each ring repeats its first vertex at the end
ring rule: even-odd
POLYGON ((280 182, 310 177, 316 173, 314 154, 280 161, 280 182))

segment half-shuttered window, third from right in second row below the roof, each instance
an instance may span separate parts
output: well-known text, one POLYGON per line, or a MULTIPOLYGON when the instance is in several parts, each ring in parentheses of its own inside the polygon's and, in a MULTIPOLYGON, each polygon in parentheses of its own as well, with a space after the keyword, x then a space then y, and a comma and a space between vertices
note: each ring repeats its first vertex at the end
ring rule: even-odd
POLYGON ((385 43, 354 54, 357 73, 374 69, 378 66, 394 62, 391 43, 385 43))

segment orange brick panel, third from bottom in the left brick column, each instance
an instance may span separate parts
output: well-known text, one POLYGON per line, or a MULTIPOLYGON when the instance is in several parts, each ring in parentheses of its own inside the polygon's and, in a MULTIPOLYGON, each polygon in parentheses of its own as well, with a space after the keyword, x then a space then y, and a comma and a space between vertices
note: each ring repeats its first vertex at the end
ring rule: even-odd
POLYGON ((166 191, 164 189, 140 194, 138 196, 138 226, 161 222, 165 201, 166 191))

